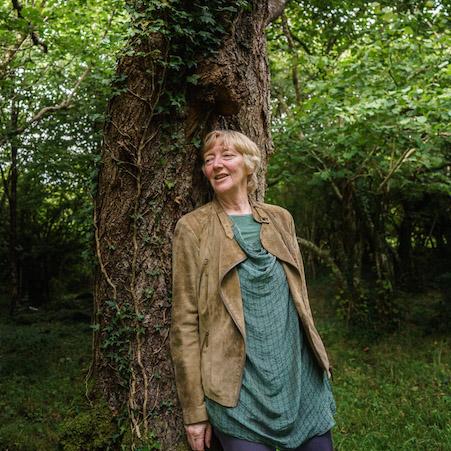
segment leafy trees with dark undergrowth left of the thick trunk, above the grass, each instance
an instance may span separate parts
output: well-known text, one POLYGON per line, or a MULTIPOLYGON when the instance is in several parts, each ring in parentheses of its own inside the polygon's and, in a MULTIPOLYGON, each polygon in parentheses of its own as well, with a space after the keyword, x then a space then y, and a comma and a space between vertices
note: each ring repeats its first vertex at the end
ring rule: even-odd
POLYGON ((8 212, 0 252, 9 263, 0 276, 10 287, 11 313, 21 298, 47 302, 62 268, 81 268, 90 166, 123 33, 118 7, 115 0, 0 6, 0 206, 8 212))

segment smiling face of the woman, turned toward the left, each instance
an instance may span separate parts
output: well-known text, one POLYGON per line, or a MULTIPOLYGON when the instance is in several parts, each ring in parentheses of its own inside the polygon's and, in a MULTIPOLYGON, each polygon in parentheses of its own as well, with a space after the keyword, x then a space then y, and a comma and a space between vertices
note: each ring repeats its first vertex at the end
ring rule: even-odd
POLYGON ((243 155, 217 140, 204 153, 202 170, 218 196, 247 195, 248 172, 243 155))

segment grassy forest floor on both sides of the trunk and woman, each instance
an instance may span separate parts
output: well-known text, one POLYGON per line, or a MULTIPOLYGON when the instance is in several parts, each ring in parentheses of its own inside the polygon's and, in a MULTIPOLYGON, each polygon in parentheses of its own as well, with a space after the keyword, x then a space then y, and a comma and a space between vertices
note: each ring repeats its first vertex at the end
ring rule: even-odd
MULTIPOLYGON (((427 299, 409 301, 397 331, 365 338, 327 313, 321 293, 312 305, 334 366, 336 450, 451 450, 451 337, 431 327, 427 299)), ((89 302, 23 310, 14 321, 0 308, 0 449, 77 449, 62 437, 89 409, 89 302)), ((105 447, 93 439, 79 449, 105 447)))

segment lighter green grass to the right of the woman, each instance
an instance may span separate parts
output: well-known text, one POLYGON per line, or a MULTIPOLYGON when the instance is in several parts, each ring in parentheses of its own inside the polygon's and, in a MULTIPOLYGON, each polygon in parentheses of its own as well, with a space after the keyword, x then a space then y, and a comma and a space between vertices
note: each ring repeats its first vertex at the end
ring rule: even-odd
POLYGON ((365 343, 338 331, 325 334, 335 367, 336 449, 448 449, 449 338, 408 327, 365 343))

